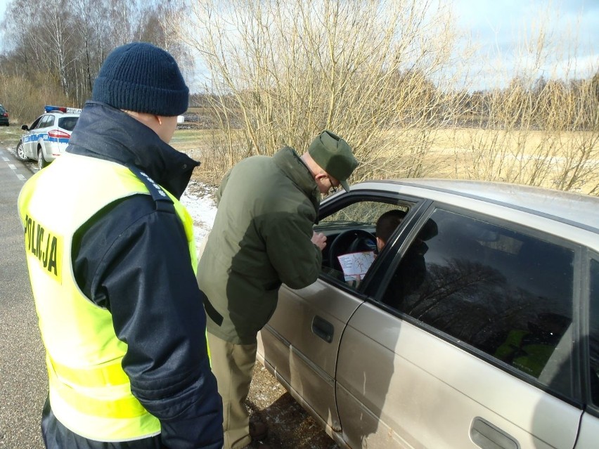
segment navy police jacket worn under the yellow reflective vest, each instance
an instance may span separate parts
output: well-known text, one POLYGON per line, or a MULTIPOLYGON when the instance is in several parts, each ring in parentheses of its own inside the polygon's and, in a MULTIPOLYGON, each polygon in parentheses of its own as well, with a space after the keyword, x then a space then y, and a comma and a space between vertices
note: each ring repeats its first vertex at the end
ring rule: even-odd
MULTIPOLYGON (((134 164, 177 198, 198 165, 136 119, 97 102, 86 103, 67 152, 134 164)), ((150 195, 133 195, 85 223, 72 251, 77 284, 112 313, 117 337, 128 345, 122 365, 131 392, 160 419, 161 434, 90 441, 60 424, 46 403, 46 446, 220 449, 222 405, 207 358, 203 294, 179 218, 157 210, 150 195)))

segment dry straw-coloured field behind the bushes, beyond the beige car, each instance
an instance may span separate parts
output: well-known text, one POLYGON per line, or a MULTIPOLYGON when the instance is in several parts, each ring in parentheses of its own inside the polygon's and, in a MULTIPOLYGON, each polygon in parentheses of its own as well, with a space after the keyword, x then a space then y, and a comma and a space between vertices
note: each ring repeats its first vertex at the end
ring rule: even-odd
MULTIPOLYGON (((172 145, 200 160, 198 181, 216 185, 226 170, 245 157, 235 143, 242 131, 227 136, 208 130, 178 130, 172 145)), ((387 131, 382 150, 357 148, 361 166, 353 182, 368 178, 460 178, 599 194, 599 134, 476 128, 387 131)), ((238 141, 239 142, 239 141, 238 141)), ((351 145, 351 141, 349 142, 351 145)), ((378 147, 377 147, 378 148, 378 147)), ((297 148, 303 152, 303 148, 297 148)))

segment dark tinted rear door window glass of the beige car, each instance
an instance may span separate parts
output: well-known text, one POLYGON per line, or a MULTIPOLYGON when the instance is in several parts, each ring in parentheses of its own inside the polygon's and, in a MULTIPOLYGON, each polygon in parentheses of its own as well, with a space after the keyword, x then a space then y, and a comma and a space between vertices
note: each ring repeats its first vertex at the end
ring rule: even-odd
POLYGON ((382 301, 569 394, 573 261, 571 249, 436 209, 382 301))

